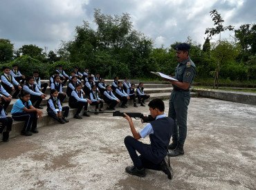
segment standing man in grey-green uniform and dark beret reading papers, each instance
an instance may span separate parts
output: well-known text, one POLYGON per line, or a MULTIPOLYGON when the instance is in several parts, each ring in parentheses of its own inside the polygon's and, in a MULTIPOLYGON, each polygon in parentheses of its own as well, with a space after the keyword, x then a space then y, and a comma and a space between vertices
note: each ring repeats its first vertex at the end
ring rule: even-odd
POLYGON ((196 74, 196 66, 189 57, 189 44, 179 44, 175 48, 176 57, 179 61, 175 69, 175 79, 170 80, 173 85, 173 91, 170 97, 168 117, 174 120, 174 133, 172 135, 172 144, 168 146, 171 151, 170 157, 183 155, 184 142, 187 136, 187 116, 188 104, 190 104, 190 84, 196 74))

